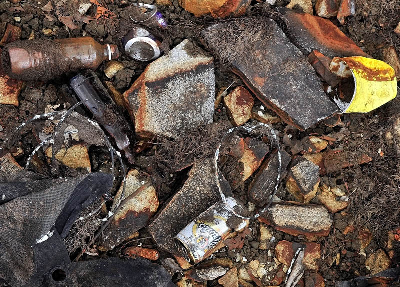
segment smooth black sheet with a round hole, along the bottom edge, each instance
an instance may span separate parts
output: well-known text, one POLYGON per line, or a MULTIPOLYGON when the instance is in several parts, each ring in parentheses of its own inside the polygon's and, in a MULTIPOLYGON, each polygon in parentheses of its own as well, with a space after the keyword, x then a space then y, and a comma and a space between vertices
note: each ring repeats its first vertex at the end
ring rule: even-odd
POLYGON ((176 287, 169 273, 146 259, 107 258, 59 266, 65 278, 56 281, 52 274, 43 287, 176 287))

